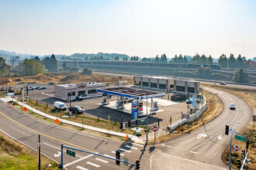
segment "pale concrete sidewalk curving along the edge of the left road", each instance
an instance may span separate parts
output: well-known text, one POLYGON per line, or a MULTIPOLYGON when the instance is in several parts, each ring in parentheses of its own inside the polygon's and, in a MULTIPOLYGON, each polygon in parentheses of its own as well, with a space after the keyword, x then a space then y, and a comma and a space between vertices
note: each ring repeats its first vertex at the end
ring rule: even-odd
MULTIPOLYGON (((8 102, 9 100, 13 100, 13 101, 17 102, 17 100, 13 99, 12 97, 4 97, 4 98, 0 98, 0 100, 2 100, 5 103, 8 102)), ((18 101, 17 104, 22 106, 22 102, 20 102, 20 101, 18 101)), ((42 111, 36 110, 35 108, 30 107, 27 104, 24 104, 24 107, 26 107, 29 110, 32 110, 36 114, 40 114, 41 116, 50 118, 50 119, 52 119, 54 121, 56 119, 59 119, 64 124, 71 124, 71 125, 79 127, 79 128, 85 128, 85 129, 92 130, 92 131, 99 131, 99 132, 102 132, 104 134, 112 134, 112 135, 116 135, 116 136, 120 136, 120 137, 126 138, 126 134, 123 134, 123 133, 120 133, 120 132, 109 131, 109 130, 101 129, 101 128, 95 128, 95 127, 88 126, 88 125, 85 125, 85 124, 79 124, 79 123, 76 123, 74 121, 67 121, 67 120, 64 120, 64 119, 62 119, 60 117, 54 117, 54 116, 51 116, 50 114, 43 113, 42 111)), ((143 144, 144 145, 144 141, 141 141, 140 138, 137 138, 137 136, 128 134, 128 138, 130 138, 134 143, 138 143, 138 144, 143 144)))

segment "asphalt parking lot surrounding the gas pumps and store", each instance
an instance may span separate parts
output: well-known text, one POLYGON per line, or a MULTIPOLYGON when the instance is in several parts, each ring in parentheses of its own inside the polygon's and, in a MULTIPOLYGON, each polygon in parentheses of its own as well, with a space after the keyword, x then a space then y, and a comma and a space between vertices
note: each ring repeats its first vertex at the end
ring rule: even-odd
MULTIPOLYGON (((71 103, 69 101, 60 100, 54 97, 54 85, 47 85, 47 84, 33 84, 34 87, 36 86, 45 86, 47 87, 46 90, 29 90, 29 97, 31 100, 36 101, 39 104, 46 105, 48 107, 54 108, 55 101, 62 101, 64 102, 67 107, 71 106, 80 106, 83 107, 85 110, 84 115, 88 117, 99 117, 101 119, 108 120, 110 116, 110 121, 120 122, 123 117, 123 121, 129 121, 131 119, 131 114, 127 114, 122 112, 121 110, 113 110, 108 107, 101 107, 99 104, 102 102, 102 97, 95 97, 85 100, 72 100, 71 103)), ((18 85, 13 87, 13 89, 19 89, 21 86, 18 85)), ((22 97, 19 95, 19 99, 22 97)), ((116 101, 117 97, 112 96, 109 101, 116 101)), ((157 99, 155 99, 157 100, 157 99)), ((158 106, 160 107, 160 111, 157 114, 149 116, 149 124, 154 124, 158 121, 168 121, 170 117, 174 119, 174 117, 178 117, 183 113, 187 112, 187 104, 185 102, 177 103, 177 104, 168 104, 166 102, 171 102, 170 100, 160 99, 161 102, 158 101, 158 106), (164 101, 164 102, 163 102, 164 101)), ((146 100, 144 100, 144 106, 146 106, 146 100)), ((150 106, 150 100, 148 100, 148 106, 150 106)), ((149 113, 149 112, 148 112, 149 113)), ((145 116, 141 116, 145 117, 145 116)), ((140 117, 139 117, 140 118, 140 117)), ((146 122, 142 123, 142 125, 146 124, 146 122)))

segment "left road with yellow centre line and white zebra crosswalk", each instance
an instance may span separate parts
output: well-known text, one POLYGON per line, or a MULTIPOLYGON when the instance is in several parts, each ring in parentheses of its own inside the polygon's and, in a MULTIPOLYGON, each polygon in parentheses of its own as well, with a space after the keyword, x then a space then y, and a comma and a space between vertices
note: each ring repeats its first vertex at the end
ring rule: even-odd
MULTIPOLYGON (((3 133, 8 134, 33 149, 36 149, 38 134, 40 134, 42 153, 54 159, 56 162, 61 162, 61 143, 112 157, 115 157, 116 150, 119 150, 121 152, 121 159, 128 158, 133 163, 139 160, 143 152, 141 151, 144 148, 143 145, 112 141, 106 138, 83 134, 79 131, 72 131, 60 125, 47 124, 7 106, 2 101, 0 102, 0 110, 0 129, 3 133)), ((114 160, 107 158, 85 154, 79 151, 76 151, 76 157, 73 158, 66 155, 65 152, 64 167, 67 169, 128 168, 123 163, 120 163, 120 166, 118 166, 114 160)), ((147 162, 149 156, 149 154, 145 154, 141 162, 147 162)), ((143 166, 144 163, 140 165, 143 166)), ((147 169, 147 165, 144 166, 144 169, 147 169)))

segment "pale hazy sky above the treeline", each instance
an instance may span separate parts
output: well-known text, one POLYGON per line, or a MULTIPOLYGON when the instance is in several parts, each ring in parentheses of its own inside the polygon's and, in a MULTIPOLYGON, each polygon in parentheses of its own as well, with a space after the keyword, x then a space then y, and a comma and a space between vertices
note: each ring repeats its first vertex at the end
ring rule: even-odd
POLYGON ((256 56, 254 0, 0 0, 0 23, 17 53, 256 56))

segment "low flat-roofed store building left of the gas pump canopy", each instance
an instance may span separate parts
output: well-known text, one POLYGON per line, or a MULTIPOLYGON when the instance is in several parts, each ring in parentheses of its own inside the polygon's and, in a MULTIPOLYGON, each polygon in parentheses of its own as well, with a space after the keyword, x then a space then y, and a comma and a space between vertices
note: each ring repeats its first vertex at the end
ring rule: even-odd
POLYGON ((55 84, 54 85, 54 97, 61 98, 63 100, 74 100, 75 97, 80 96, 98 97, 102 96, 102 93, 97 91, 97 88, 107 87, 105 83, 84 82, 84 83, 67 83, 67 84, 55 84))

